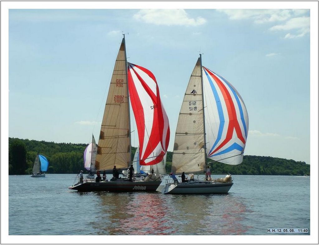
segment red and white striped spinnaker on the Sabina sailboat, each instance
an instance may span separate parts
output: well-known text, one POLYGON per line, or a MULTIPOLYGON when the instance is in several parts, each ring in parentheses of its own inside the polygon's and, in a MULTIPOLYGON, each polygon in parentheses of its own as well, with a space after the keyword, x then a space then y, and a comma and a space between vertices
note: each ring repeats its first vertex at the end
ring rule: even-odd
POLYGON ((169 123, 153 73, 128 63, 128 84, 140 148, 140 165, 163 160, 169 143, 169 123))

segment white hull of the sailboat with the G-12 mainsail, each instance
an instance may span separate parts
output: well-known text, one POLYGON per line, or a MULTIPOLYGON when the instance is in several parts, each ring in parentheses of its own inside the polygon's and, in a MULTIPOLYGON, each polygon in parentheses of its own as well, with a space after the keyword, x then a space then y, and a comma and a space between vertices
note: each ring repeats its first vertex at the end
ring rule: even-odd
POLYGON ((186 182, 167 183, 163 188, 164 194, 198 194, 198 193, 228 193, 234 183, 219 182, 186 182))

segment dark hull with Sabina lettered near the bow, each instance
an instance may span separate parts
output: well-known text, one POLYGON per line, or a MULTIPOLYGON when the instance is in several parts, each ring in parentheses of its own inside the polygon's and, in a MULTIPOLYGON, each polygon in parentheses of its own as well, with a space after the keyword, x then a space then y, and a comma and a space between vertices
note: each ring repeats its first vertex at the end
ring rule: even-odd
POLYGON ((161 181, 108 181, 93 182, 86 181, 69 187, 71 190, 82 192, 88 191, 110 191, 110 192, 147 192, 156 191, 161 181))

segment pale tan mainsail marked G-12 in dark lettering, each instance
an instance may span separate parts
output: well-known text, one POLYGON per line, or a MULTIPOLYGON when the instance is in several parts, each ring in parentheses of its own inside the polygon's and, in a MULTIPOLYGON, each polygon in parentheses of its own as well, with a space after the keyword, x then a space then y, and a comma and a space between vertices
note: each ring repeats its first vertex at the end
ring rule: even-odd
POLYGON ((190 76, 178 117, 172 160, 175 174, 205 170, 201 57, 190 76))

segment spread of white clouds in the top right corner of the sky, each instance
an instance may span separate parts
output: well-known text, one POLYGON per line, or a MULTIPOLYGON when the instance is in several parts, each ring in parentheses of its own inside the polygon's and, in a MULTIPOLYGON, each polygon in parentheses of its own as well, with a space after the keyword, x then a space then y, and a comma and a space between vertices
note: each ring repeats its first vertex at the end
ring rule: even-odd
POLYGON ((256 24, 275 23, 270 31, 294 31, 286 33, 285 38, 299 38, 310 32, 308 9, 222 9, 218 10, 232 20, 250 19, 256 24))

